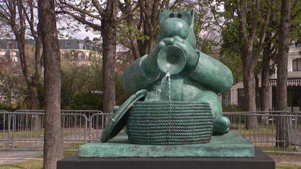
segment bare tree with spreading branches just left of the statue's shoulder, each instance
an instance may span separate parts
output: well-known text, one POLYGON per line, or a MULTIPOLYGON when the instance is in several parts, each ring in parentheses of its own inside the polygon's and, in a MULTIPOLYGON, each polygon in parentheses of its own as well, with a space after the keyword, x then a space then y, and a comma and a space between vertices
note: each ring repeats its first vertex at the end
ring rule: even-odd
MULTIPOLYGON (((115 105, 114 65, 116 58, 117 24, 131 15, 133 11, 117 17, 119 1, 116 0, 109 0, 104 4, 100 4, 98 0, 79 2, 69 0, 58 1, 60 8, 58 13, 67 14, 81 24, 101 33, 103 49, 103 111, 110 113, 115 105)), ((131 3, 131 6, 133 5, 134 3, 131 3)))

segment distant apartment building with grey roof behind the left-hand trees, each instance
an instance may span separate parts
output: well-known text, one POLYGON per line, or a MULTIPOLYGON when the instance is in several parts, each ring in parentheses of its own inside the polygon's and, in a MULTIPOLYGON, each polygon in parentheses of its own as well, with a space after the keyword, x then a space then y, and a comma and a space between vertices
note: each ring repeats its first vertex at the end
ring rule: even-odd
MULTIPOLYGON (((27 48, 34 48, 34 40, 26 40, 27 48)), ((60 39, 59 40, 60 53, 62 59, 89 61, 91 55, 96 57, 99 49, 85 40, 80 39, 60 39)), ((14 61, 19 61, 19 50, 16 40, 0 39, 0 57, 10 57, 14 61)))

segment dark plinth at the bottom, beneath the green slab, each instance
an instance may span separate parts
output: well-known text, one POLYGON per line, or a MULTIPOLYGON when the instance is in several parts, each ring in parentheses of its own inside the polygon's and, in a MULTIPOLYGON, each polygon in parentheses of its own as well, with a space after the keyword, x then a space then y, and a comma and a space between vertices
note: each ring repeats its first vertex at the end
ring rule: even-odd
POLYGON ((102 157, 70 156, 57 162, 57 169, 274 169, 275 161, 255 148, 252 158, 205 157, 102 157))

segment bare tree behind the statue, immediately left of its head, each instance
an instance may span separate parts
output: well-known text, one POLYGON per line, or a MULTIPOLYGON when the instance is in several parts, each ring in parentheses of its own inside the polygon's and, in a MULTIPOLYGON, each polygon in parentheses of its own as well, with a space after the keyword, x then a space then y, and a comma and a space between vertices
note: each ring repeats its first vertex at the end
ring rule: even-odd
MULTIPOLYGON (((138 0, 136 7, 131 7, 130 2, 119 3, 118 7, 123 15, 129 14, 131 11, 138 7, 136 13, 129 15, 125 21, 129 28, 129 41, 134 60, 146 55, 155 44, 156 37, 158 36, 159 28, 159 10, 167 9, 172 10, 181 1, 166 1, 166 0, 138 0), (134 9, 133 9, 134 8, 134 9), (137 38, 134 30, 141 32, 141 37, 137 38)), ((190 1, 182 3, 192 3, 190 1)), ((195 3, 194 3, 195 4, 195 3)))

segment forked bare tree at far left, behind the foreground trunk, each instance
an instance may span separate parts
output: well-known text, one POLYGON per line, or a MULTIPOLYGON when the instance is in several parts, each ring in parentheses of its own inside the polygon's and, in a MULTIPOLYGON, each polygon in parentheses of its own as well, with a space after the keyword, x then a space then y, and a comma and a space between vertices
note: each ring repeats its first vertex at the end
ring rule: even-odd
POLYGON ((29 88, 30 108, 39 109, 38 83, 40 80, 43 59, 41 56, 41 35, 35 16, 35 3, 33 0, 0 2, 0 22, 9 26, 13 32, 19 49, 22 72, 29 88), (31 74, 26 56, 26 35, 30 32, 35 40, 34 73, 31 74))

